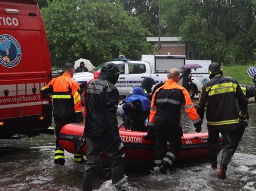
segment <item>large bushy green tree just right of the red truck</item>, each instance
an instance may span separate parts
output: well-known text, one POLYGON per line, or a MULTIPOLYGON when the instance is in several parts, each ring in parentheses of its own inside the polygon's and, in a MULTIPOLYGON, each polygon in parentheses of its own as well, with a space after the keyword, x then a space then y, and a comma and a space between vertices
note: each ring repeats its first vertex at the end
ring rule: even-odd
POLYGON ((150 33, 119 3, 54 0, 42 9, 53 65, 79 58, 97 66, 124 54, 139 59, 150 53, 150 33))

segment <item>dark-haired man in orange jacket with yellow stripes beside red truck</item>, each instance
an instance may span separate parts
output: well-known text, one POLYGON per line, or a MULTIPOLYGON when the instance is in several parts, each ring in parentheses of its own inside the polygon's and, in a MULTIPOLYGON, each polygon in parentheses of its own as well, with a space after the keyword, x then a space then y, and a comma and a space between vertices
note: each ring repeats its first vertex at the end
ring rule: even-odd
MULTIPOLYGON (((59 131, 65 124, 83 122, 79 84, 72 79, 75 68, 71 63, 64 65, 64 74, 52 79, 47 86, 41 89, 43 96, 52 95, 53 117, 55 121, 56 150, 54 162, 58 165, 65 164, 64 150, 59 145, 59 131)), ((83 162, 82 155, 75 154, 76 162, 83 162)))

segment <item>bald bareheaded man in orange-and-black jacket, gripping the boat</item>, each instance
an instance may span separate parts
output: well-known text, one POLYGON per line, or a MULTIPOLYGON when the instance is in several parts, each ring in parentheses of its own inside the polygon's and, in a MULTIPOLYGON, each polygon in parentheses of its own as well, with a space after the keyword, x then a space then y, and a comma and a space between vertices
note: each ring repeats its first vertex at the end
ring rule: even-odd
POLYGON ((168 80, 164 83, 164 86, 158 88, 156 93, 153 94, 148 124, 149 131, 147 133, 150 136, 154 128, 156 137, 154 165, 159 166, 161 174, 165 174, 167 169, 172 166, 181 149, 181 137, 183 136, 180 125, 181 104, 184 105, 185 111, 197 132, 201 131, 202 124, 187 90, 177 83, 179 81, 179 71, 171 69, 167 77, 168 80), (166 148, 167 141, 170 143, 168 150, 166 148))

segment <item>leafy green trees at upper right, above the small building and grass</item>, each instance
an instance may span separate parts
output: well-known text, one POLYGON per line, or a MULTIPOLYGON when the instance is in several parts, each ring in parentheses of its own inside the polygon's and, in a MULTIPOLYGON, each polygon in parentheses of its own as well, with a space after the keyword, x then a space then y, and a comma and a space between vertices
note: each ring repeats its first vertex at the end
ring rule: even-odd
POLYGON ((205 59, 248 63, 255 59, 255 0, 163 0, 167 34, 193 44, 205 59))

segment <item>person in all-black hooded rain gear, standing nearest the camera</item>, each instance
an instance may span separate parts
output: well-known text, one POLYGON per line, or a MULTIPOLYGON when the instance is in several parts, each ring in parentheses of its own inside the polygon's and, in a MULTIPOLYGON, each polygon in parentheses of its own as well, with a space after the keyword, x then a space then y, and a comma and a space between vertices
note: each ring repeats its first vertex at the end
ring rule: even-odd
POLYGON ((114 84, 119 70, 112 62, 106 62, 99 77, 89 83, 85 92, 86 118, 85 138, 87 143, 83 190, 92 190, 100 155, 105 151, 113 161, 112 184, 124 177, 124 145, 119 136, 117 104, 119 93, 114 84))

